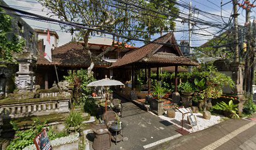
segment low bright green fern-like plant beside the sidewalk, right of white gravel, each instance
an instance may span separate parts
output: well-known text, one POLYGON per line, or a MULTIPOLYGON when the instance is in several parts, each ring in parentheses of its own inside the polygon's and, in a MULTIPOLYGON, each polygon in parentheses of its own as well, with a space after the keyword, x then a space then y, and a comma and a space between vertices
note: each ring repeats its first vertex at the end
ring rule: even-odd
POLYGON ((225 102, 217 103, 215 106, 213 106, 214 109, 223 111, 224 116, 228 118, 239 118, 237 114, 237 104, 233 104, 233 101, 230 100, 228 104, 225 102))

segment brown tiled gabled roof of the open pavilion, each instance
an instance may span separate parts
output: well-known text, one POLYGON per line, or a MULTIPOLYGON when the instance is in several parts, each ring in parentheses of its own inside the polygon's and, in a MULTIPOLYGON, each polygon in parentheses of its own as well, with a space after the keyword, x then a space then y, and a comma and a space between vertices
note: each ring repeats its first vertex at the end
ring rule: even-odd
MULTIPOLYGON (((193 66, 197 63, 191 61, 189 58, 183 57, 179 47, 177 46, 175 37, 173 33, 169 32, 164 36, 159 37, 154 42, 149 42, 139 49, 131 51, 130 53, 125 54, 124 57, 117 60, 110 68, 116 68, 119 66, 124 66, 132 63, 155 63, 155 64, 169 64, 172 65, 186 65, 193 66), (173 46, 168 46, 169 49, 174 50, 176 53, 157 53, 157 51, 163 46, 159 43, 168 43, 173 44, 173 46)), ((160 66, 159 66, 160 67, 160 66)))

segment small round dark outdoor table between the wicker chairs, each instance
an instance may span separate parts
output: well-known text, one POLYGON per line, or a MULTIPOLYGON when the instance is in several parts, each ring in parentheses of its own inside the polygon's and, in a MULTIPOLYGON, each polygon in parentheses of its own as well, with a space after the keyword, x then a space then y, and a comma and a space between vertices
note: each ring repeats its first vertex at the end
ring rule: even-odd
POLYGON ((124 123, 117 124, 117 122, 115 122, 111 124, 110 129, 115 133, 114 135, 112 134, 111 139, 115 141, 115 145, 124 138, 124 128, 124 123))

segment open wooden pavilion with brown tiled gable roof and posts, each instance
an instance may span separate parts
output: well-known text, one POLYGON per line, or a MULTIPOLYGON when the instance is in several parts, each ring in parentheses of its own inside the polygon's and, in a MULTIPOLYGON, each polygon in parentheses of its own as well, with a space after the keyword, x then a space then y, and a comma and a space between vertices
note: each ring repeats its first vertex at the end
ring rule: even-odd
POLYGON ((157 68, 159 79, 159 67, 175 67, 175 92, 178 92, 178 66, 197 66, 198 63, 183 56, 178 47, 174 34, 169 32, 148 44, 125 54, 110 68, 131 68, 132 90, 134 90, 134 71, 136 69, 148 69, 148 94, 151 89, 151 68, 157 68))

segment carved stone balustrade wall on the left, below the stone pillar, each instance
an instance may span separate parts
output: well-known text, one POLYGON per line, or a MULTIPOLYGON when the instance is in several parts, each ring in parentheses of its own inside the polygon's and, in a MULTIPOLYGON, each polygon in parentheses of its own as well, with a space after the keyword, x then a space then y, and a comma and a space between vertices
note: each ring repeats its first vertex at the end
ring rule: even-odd
POLYGON ((0 101, 0 113, 3 118, 24 118, 28 116, 44 116, 70 111, 70 98, 51 97, 0 101))

